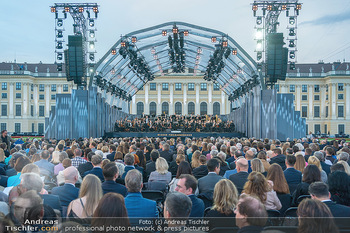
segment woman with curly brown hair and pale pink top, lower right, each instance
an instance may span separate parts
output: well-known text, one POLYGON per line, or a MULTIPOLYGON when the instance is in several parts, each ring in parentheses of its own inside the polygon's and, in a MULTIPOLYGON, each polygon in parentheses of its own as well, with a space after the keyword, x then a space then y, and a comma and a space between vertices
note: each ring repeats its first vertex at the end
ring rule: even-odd
POLYGON ((257 196, 265 205, 266 210, 279 210, 282 208, 282 204, 273 190, 273 183, 268 182, 264 175, 259 172, 249 174, 243 193, 257 196))

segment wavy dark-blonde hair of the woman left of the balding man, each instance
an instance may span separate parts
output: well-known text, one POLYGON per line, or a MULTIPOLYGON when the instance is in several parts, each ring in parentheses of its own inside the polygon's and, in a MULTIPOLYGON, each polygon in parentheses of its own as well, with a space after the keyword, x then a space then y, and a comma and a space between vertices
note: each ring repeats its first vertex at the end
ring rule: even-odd
POLYGON ((229 215, 238 203, 238 191, 231 180, 222 179, 216 183, 213 194, 213 209, 229 215))

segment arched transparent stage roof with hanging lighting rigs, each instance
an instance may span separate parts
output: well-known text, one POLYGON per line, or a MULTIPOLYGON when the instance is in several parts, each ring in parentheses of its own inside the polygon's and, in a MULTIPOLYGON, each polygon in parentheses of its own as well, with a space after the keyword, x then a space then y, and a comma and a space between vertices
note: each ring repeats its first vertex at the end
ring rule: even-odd
POLYGON ((230 36, 184 22, 168 22, 122 36, 95 66, 93 84, 130 100, 159 76, 203 76, 228 95, 258 85, 257 64, 230 36))

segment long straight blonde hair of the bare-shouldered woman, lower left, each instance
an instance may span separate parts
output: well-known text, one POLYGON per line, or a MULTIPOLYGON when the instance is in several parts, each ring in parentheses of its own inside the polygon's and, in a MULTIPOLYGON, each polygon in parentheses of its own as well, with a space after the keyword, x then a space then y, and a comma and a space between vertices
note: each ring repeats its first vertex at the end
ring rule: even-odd
POLYGON ((92 174, 85 176, 81 183, 79 197, 86 197, 85 209, 87 215, 92 216, 102 196, 100 179, 92 174))

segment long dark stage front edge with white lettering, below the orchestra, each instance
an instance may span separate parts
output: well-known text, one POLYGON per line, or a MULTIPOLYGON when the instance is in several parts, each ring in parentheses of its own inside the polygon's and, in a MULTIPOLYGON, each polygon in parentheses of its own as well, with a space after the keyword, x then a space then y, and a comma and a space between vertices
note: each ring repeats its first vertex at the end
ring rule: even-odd
POLYGON ((225 138, 241 138, 244 135, 242 133, 233 132, 233 133, 218 133, 218 132, 106 132, 105 137, 107 138, 125 138, 125 137, 149 137, 149 138, 158 138, 158 137, 167 137, 167 138, 206 138, 206 137, 225 137, 225 138))

